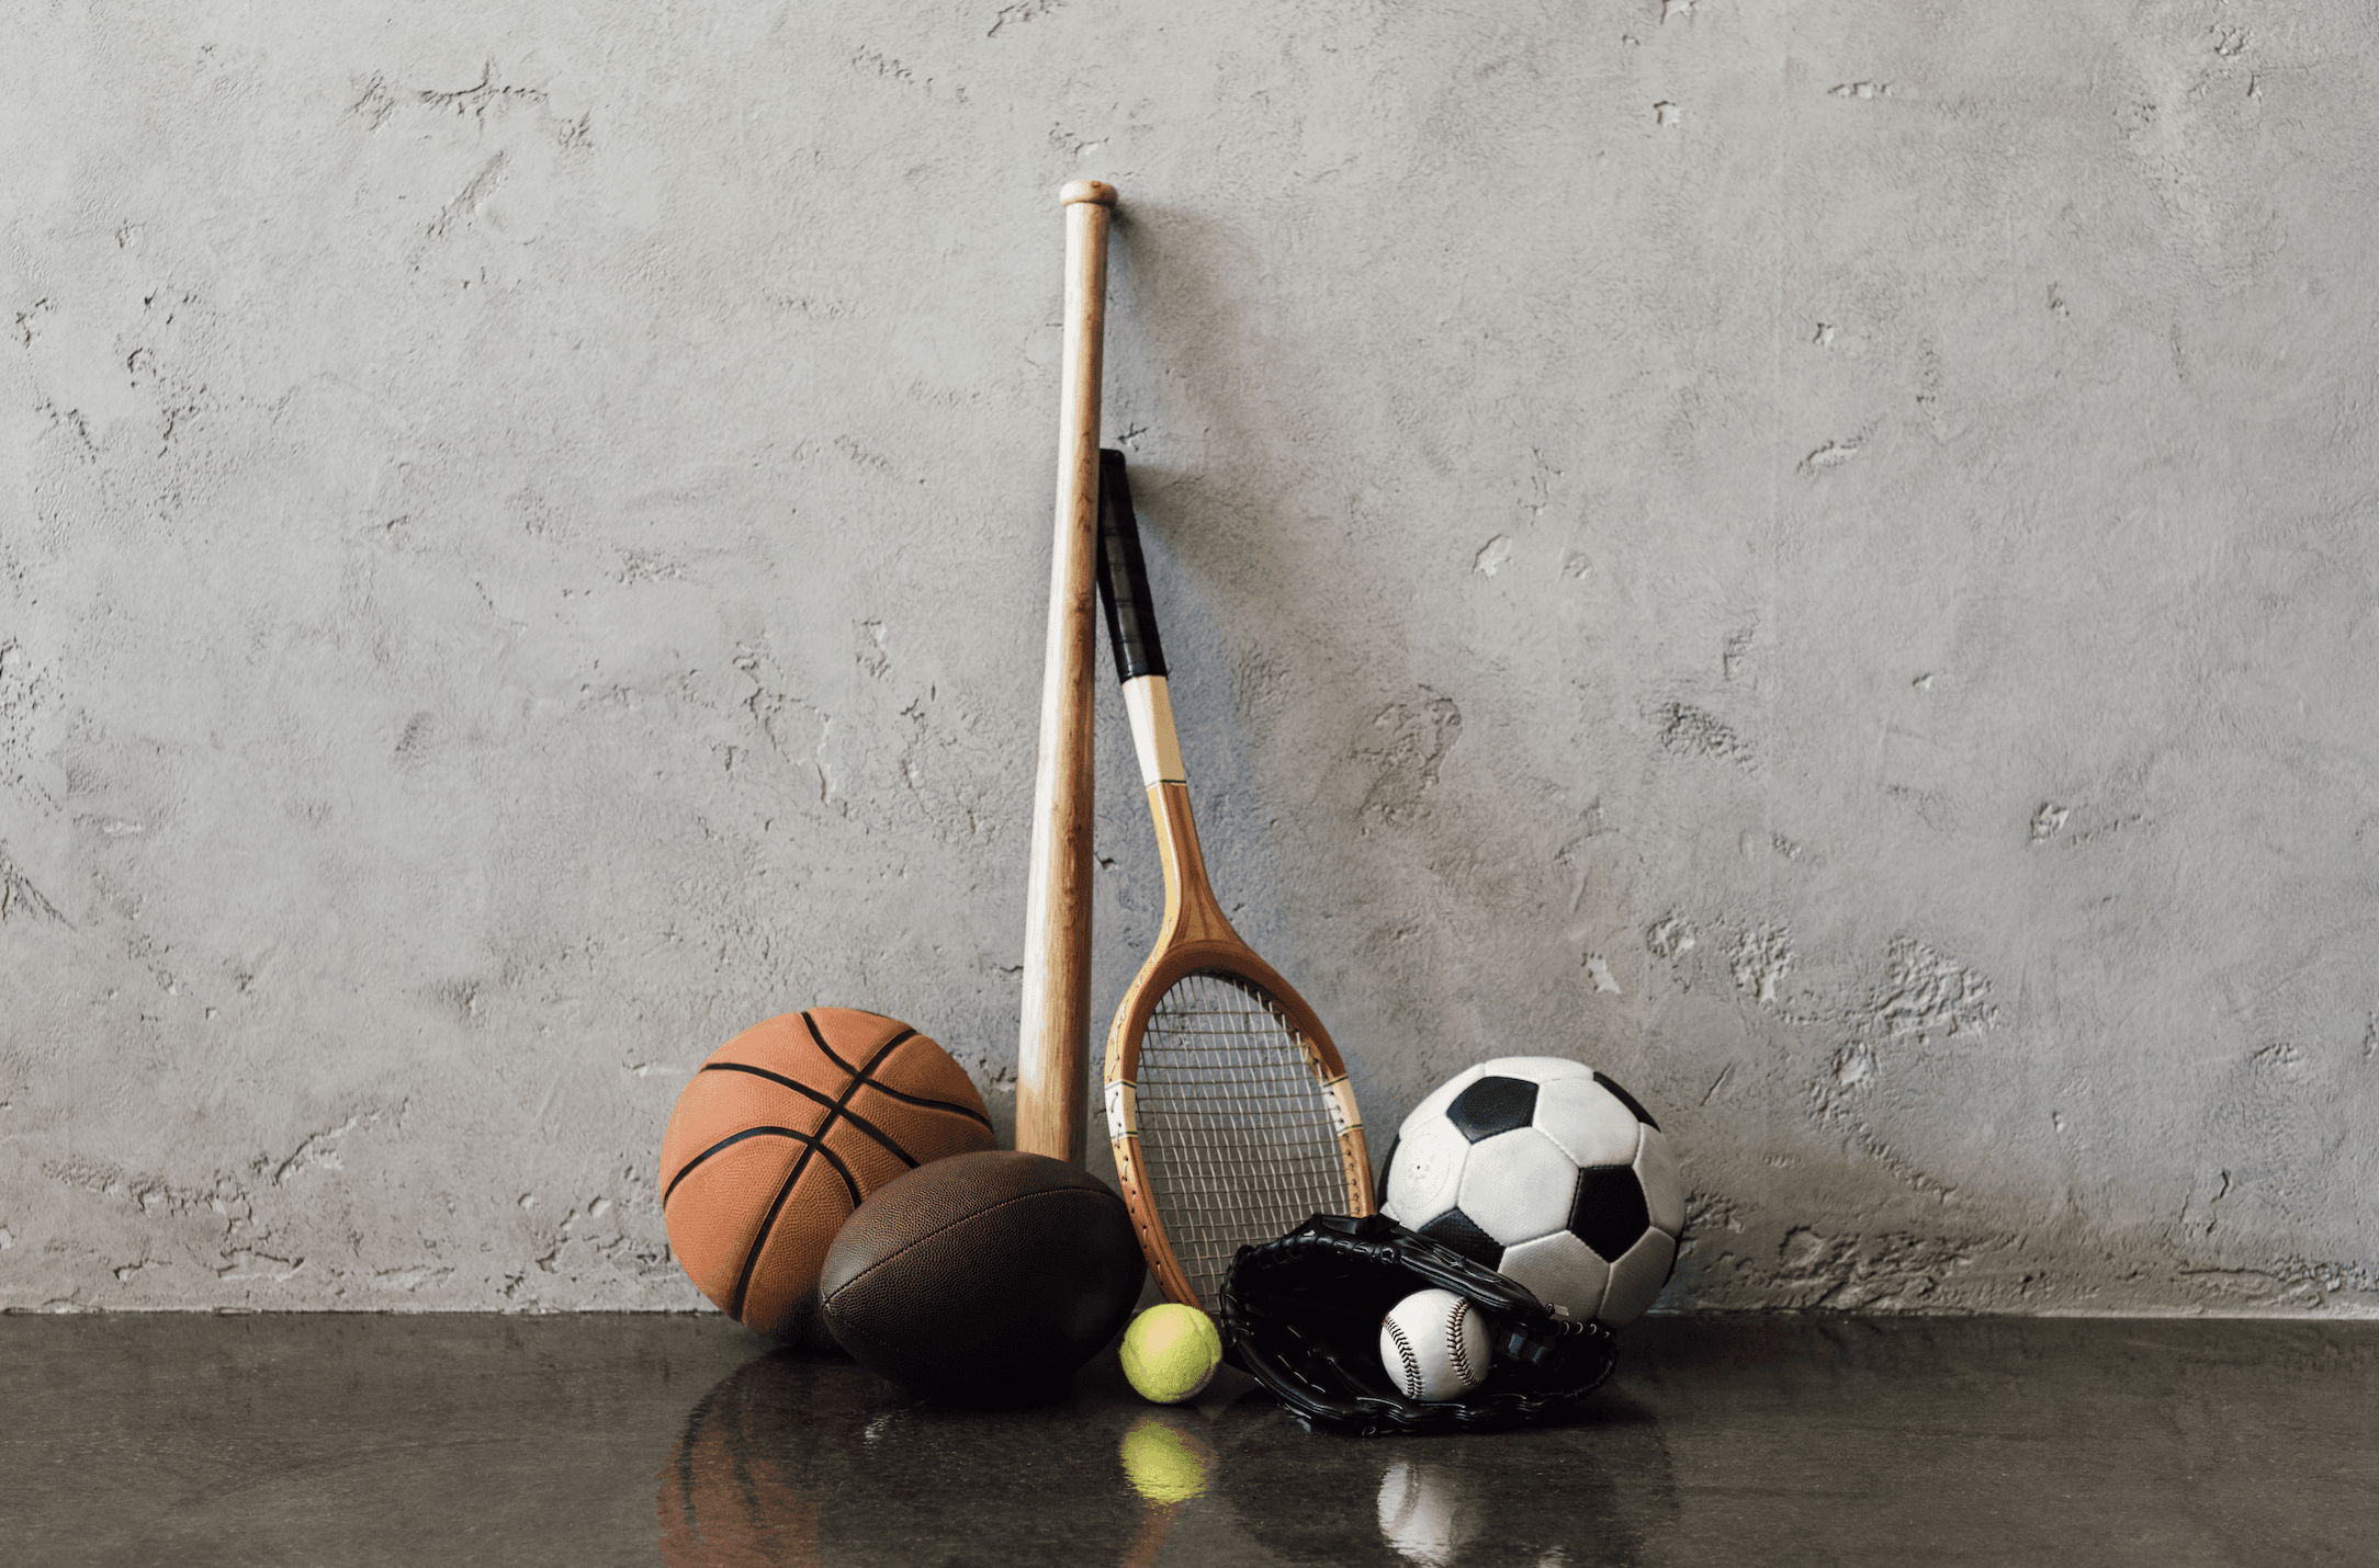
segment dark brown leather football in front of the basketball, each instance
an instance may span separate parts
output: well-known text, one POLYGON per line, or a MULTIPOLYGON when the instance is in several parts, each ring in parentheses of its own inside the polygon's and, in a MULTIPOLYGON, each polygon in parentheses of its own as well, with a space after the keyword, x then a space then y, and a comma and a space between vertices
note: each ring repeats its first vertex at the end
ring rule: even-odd
POLYGON ((1032 1404, 1116 1338, 1147 1264, 1123 1200, 1044 1155, 949 1155, 842 1224, 818 1297, 835 1342, 909 1392, 1032 1404))

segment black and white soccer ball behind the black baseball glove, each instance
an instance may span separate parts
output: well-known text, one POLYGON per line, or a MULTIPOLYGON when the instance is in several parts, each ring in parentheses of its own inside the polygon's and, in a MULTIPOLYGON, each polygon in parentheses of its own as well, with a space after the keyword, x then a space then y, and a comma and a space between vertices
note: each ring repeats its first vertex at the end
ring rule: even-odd
POLYGON ((1561 1057, 1480 1062, 1413 1107, 1380 1212, 1611 1328, 1677 1266, 1684 1178, 1625 1088, 1561 1057))

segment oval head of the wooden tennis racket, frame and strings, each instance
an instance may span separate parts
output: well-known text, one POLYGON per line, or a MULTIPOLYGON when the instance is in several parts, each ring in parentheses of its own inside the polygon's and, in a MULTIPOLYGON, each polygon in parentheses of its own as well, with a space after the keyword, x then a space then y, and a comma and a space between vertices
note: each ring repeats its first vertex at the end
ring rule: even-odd
POLYGON ((1370 1214, 1370 1150, 1337 1045, 1244 943, 1159 950, 1106 1041, 1106 1131, 1163 1292, 1213 1311, 1249 1243, 1370 1214))

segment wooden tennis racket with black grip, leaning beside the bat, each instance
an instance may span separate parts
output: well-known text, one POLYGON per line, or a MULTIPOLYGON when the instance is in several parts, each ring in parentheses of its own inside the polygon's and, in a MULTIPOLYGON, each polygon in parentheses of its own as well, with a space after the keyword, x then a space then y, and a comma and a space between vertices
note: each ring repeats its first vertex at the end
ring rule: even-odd
POLYGON ((1370 1214, 1370 1152, 1330 1033, 1206 884, 1121 451, 1099 454, 1099 594, 1166 870, 1156 950, 1106 1036, 1106 1136, 1156 1283, 1213 1311, 1242 1245, 1370 1214))

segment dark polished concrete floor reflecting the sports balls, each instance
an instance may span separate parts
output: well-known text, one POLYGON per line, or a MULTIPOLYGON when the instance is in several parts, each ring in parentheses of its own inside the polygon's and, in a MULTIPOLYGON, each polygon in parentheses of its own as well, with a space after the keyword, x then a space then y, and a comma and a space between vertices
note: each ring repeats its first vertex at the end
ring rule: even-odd
POLYGON ((1589 1421, 1023 1414, 721 1319, 0 1316, 0 1563, 2379 1563, 2379 1323, 1653 1319, 1589 1421))

